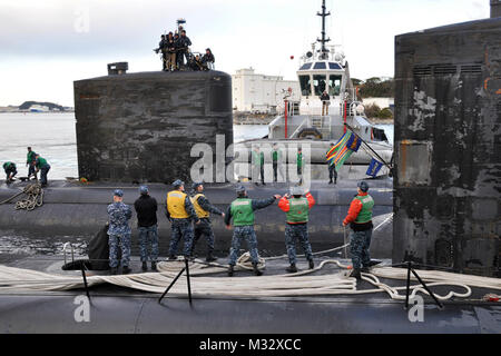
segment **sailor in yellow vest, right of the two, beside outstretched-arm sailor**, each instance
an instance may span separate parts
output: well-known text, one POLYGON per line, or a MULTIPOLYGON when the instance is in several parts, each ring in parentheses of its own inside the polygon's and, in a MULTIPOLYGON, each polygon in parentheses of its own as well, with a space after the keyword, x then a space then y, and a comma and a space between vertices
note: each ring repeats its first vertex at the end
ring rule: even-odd
POLYGON ((204 185, 202 182, 193 184, 194 196, 191 197, 193 206, 197 212, 200 224, 195 226, 195 235, 191 244, 191 256, 194 256, 195 245, 202 236, 205 236, 207 240, 207 256, 206 261, 210 263, 216 260, 214 257, 214 233, 210 224, 210 212, 225 217, 225 214, 212 205, 207 197, 204 195, 204 185))

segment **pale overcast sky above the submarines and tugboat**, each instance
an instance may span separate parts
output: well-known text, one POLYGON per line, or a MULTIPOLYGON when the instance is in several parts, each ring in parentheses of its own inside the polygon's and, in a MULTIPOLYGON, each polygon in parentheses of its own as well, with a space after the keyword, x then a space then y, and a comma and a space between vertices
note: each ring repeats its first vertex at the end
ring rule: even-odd
MULTIPOLYGON (((24 100, 73 106, 72 81, 161 68, 153 51, 186 18, 194 51, 210 47, 216 69, 253 67, 295 79, 321 31, 321 0, 0 0, 0 106, 24 100), (294 60, 291 60, 294 56, 294 60)), ((352 77, 393 77, 394 37, 489 17, 489 0, 327 0, 327 32, 352 77)))

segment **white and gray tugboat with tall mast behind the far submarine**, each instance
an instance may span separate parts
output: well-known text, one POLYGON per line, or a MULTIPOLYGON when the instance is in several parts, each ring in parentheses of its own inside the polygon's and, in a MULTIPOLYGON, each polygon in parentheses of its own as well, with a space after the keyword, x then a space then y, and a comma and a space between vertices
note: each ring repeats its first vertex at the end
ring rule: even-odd
MULTIPOLYGON (((357 98, 357 90, 350 77, 348 62, 337 46, 326 46, 331 41, 326 38, 325 0, 322 12, 322 37, 312 43, 312 50, 301 57, 297 77, 301 86, 301 100, 292 102, 291 89, 284 93, 284 113, 277 116, 268 125, 268 134, 262 139, 249 139, 235 144, 235 174, 242 179, 250 177, 250 155, 254 147, 259 147, 266 154, 274 144, 283 145, 288 150, 288 162, 293 162, 298 147, 305 156, 310 156, 311 179, 324 179, 327 176, 326 152, 331 144, 351 130, 362 140, 362 149, 352 155, 338 175, 343 179, 367 178, 366 171, 372 158, 383 161, 377 176, 390 174, 390 162, 393 146, 389 144, 384 130, 369 122, 362 102, 357 98), (328 93, 330 100, 321 100, 323 92, 328 93), (326 108, 323 106, 326 106, 326 108), (323 110, 326 109, 326 112, 323 110), (310 155, 307 155, 307 150, 310 155)), ((271 158, 269 158, 271 159, 271 158)), ((308 162, 307 162, 308 164, 308 162)))

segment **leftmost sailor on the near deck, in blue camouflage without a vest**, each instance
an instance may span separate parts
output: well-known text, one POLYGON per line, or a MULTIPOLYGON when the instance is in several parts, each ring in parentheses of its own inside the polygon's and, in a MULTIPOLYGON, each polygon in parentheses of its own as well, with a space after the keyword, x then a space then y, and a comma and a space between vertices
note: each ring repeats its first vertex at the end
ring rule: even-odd
POLYGON ((121 271, 124 275, 130 273, 130 227, 132 209, 122 202, 124 191, 115 190, 114 202, 108 206, 109 216, 109 267, 111 274, 117 274, 118 249, 121 250, 121 271))

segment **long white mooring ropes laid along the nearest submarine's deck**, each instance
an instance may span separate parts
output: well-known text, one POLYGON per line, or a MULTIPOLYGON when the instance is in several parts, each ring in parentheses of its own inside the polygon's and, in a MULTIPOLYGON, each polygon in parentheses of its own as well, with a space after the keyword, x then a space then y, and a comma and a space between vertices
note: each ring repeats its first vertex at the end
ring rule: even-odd
MULTIPOLYGON (((392 287, 380 278, 406 279, 405 268, 379 267, 371 273, 362 273, 362 278, 374 286, 373 289, 356 289, 356 279, 350 277, 347 266, 335 259, 323 260, 316 268, 284 275, 264 275, 248 277, 208 276, 220 273, 223 265, 200 264, 190 261, 191 291, 194 296, 234 296, 234 297, 292 297, 292 296, 333 296, 333 295, 360 295, 373 293, 386 293, 392 299, 404 299, 405 295, 399 291, 405 290, 405 286, 392 287), (326 265, 337 265, 340 270, 331 274, 312 275, 325 268, 326 265)), ((145 273, 118 276, 89 276, 89 286, 99 284, 112 284, 121 287, 139 289, 151 293, 163 293, 185 266, 183 260, 159 263, 159 273, 145 273)), ((237 266, 247 269, 248 256, 240 256, 237 266)), ((459 275, 434 270, 418 270, 419 275, 429 286, 460 287, 464 291, 451 290, 445 295, 435 296, 441 299, 466 298, 471 296, 471 287, 480 287, 492 290, 501 290, 501 279, 459 275)), ((412 280, 415 280, 412 278, 412 280)), ((186 278, 179 278, 171 291, 176 295, 187 295, 186 278)), ((0 266, 0 291, 28 290, 70 290, 82 288, 81 277, 52 275, 36 270, 0 266)), ((420 284, 411 286, 412 296, 418 293, 428 294, 420 284)))

